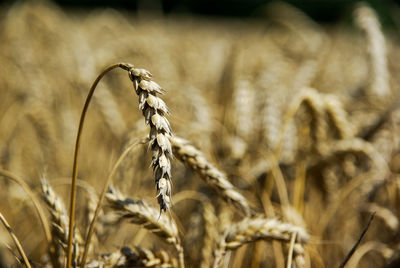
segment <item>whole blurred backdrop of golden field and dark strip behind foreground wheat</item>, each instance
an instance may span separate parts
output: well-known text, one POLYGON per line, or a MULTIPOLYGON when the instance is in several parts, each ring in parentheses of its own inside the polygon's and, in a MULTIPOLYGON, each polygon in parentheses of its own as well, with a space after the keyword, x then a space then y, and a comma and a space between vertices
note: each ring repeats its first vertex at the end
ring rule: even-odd
MULTIPOLYGON (((88 89, 110 64, 130 62, 166 89, 161 98, 174 134, 226 173, 254 211, 310 233, 306 267, 338 266, 372 211, 376 219, 349 267, 398 267, 399 29, 394 0, 2 1, 0 169, 39 199, 47 177, 68 204, 88 89)), ((83 132, 81 234, 116 159, 148 132, 127 73, 107 74, 83 132)), ((138 146, 113 184, 157 207, 150 162, 147 145, 138 146)), ((172 177, 187 266, 209 267, 220 235, 243 215, 177 159, 172 177)), ((7 176, 0 177, 0 212, 30 259, 47 267, 31 200, 7 176)), ((100 225, 107 231, 96 233, 101 243, 90 260, 123 246, 176 258, 170 245, 138 226, 105 219, 100 225)), ((0 267, 17 266, 4 228, 0 241, 0 267)), ((283 267, 287 253, 285 243, 259 241, 225 263, 283 267)))

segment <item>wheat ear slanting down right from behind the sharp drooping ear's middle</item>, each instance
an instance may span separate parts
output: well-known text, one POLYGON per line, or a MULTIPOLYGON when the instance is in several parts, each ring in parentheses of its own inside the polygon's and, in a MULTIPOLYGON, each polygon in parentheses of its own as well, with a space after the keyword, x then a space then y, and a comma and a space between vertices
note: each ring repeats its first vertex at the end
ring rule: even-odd
POLYGON ((199 150, 182 138, 171 137, 170 139, 176 158, 198 173, 228 203, 234 205, 246 216, 254 214, 246 198, 229 182, 226 175, 215 168, 199 150))

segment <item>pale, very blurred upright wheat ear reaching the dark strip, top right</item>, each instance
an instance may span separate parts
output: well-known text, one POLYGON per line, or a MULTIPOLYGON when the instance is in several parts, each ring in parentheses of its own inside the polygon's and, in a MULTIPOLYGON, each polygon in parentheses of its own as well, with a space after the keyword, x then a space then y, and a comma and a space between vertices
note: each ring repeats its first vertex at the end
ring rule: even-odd
POLYGON ((371 64, 371 93, 379 97, 390 94, 389 71, 386 58, 385 37, 375 11, 366 4, 359 4, 354 11, 354 18, 364 31, 368 42, 371 64))

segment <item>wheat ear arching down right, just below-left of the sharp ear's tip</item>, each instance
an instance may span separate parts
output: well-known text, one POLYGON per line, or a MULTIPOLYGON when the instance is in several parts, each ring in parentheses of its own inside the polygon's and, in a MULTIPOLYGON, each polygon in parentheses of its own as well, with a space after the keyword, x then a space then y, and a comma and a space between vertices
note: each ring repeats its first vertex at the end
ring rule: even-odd
POLYGON ((178 235, 178 228, 172 218, 168 217, 167 214, 160 214, 158 209, 150 207, 144 201, 125 197, 113 187, 109 187, 106 198, 111 208, 118 212, 122 218, 142 226, 167 243, 174 245, 178 252, 179 266, 184 267, 183 248, 178 235))

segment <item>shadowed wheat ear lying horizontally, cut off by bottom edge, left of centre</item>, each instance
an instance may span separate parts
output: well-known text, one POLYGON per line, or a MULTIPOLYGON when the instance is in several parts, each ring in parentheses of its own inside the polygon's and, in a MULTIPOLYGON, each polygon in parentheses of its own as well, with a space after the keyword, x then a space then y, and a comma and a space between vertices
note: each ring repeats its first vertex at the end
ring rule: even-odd
POLYGON ((176 267, 177 260, 166 251, 153 252, 141 247, 123 247, 120 250, 102 254, 98 260, 90 261, 86 267, 176 267))

